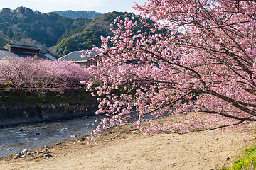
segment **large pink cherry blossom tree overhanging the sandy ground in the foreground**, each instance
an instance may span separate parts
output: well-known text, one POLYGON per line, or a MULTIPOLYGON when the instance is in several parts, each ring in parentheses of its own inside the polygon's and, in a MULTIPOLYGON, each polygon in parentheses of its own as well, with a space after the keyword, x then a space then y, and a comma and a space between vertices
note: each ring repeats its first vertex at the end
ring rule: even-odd
POLYGON ((83 81, 101 96, 98 113, 110 116, 103 128, 137 118, 146 133, 183 133, 256 120, 255 0, 150 0, 134 9, 155 24, 117 18, 114 36, 93 49, 102 54, 90 68, 101 86, 83 81), (183 120, 151 121, 174 114, 183 120))

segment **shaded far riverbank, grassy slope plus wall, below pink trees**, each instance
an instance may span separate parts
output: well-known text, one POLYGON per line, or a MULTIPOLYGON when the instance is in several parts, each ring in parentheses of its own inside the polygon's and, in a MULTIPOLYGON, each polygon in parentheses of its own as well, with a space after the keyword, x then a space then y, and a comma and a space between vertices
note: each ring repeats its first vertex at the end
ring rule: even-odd
POLYGON ((95 115, 97 104, 85 89, 68 89, 63 94, 0 90, 0 128, 95 115))

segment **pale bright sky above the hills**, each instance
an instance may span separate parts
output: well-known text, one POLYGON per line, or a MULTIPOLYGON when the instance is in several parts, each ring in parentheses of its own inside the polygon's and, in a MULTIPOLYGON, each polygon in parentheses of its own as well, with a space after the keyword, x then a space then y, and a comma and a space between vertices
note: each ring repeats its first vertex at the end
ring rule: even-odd
POLYGON ((148 0, 7 0, 1 1, 0 9, 14 9, 23 6, 42 13, 64 10, 97 11, 100 13, 112 11, 139 13, 132 9, 134 1, 138 4, 143 4, 148 0))

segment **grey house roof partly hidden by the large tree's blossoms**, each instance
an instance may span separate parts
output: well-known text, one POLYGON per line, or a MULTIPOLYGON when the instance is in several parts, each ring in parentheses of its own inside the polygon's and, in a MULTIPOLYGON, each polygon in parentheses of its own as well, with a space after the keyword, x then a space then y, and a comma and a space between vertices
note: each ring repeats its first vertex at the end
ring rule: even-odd
POLYGON ((68 53, 68 55, 64 55, 63 57, 60 57, 58 60, 67 60, 67 61, 74 61, 74 62, 87 62, 91 60, 93 57, 96 57, 100 55, 99 53, 92 51, 92 54, 88 57, 87 55, 85 57, 81 57, 84 52, 82 51, 74 51, 68 53))

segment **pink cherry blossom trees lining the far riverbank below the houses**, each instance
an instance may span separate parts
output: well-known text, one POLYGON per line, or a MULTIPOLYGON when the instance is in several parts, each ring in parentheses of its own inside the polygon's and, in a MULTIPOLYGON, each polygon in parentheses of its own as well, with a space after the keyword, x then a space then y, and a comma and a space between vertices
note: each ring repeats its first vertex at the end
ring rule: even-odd
POLYGON ((42 60, 38 57, 8 57, 0 63, 0 83, 15 91, 59 91, 79 87, 88 79, 87 69, 68 61, 42 60))

